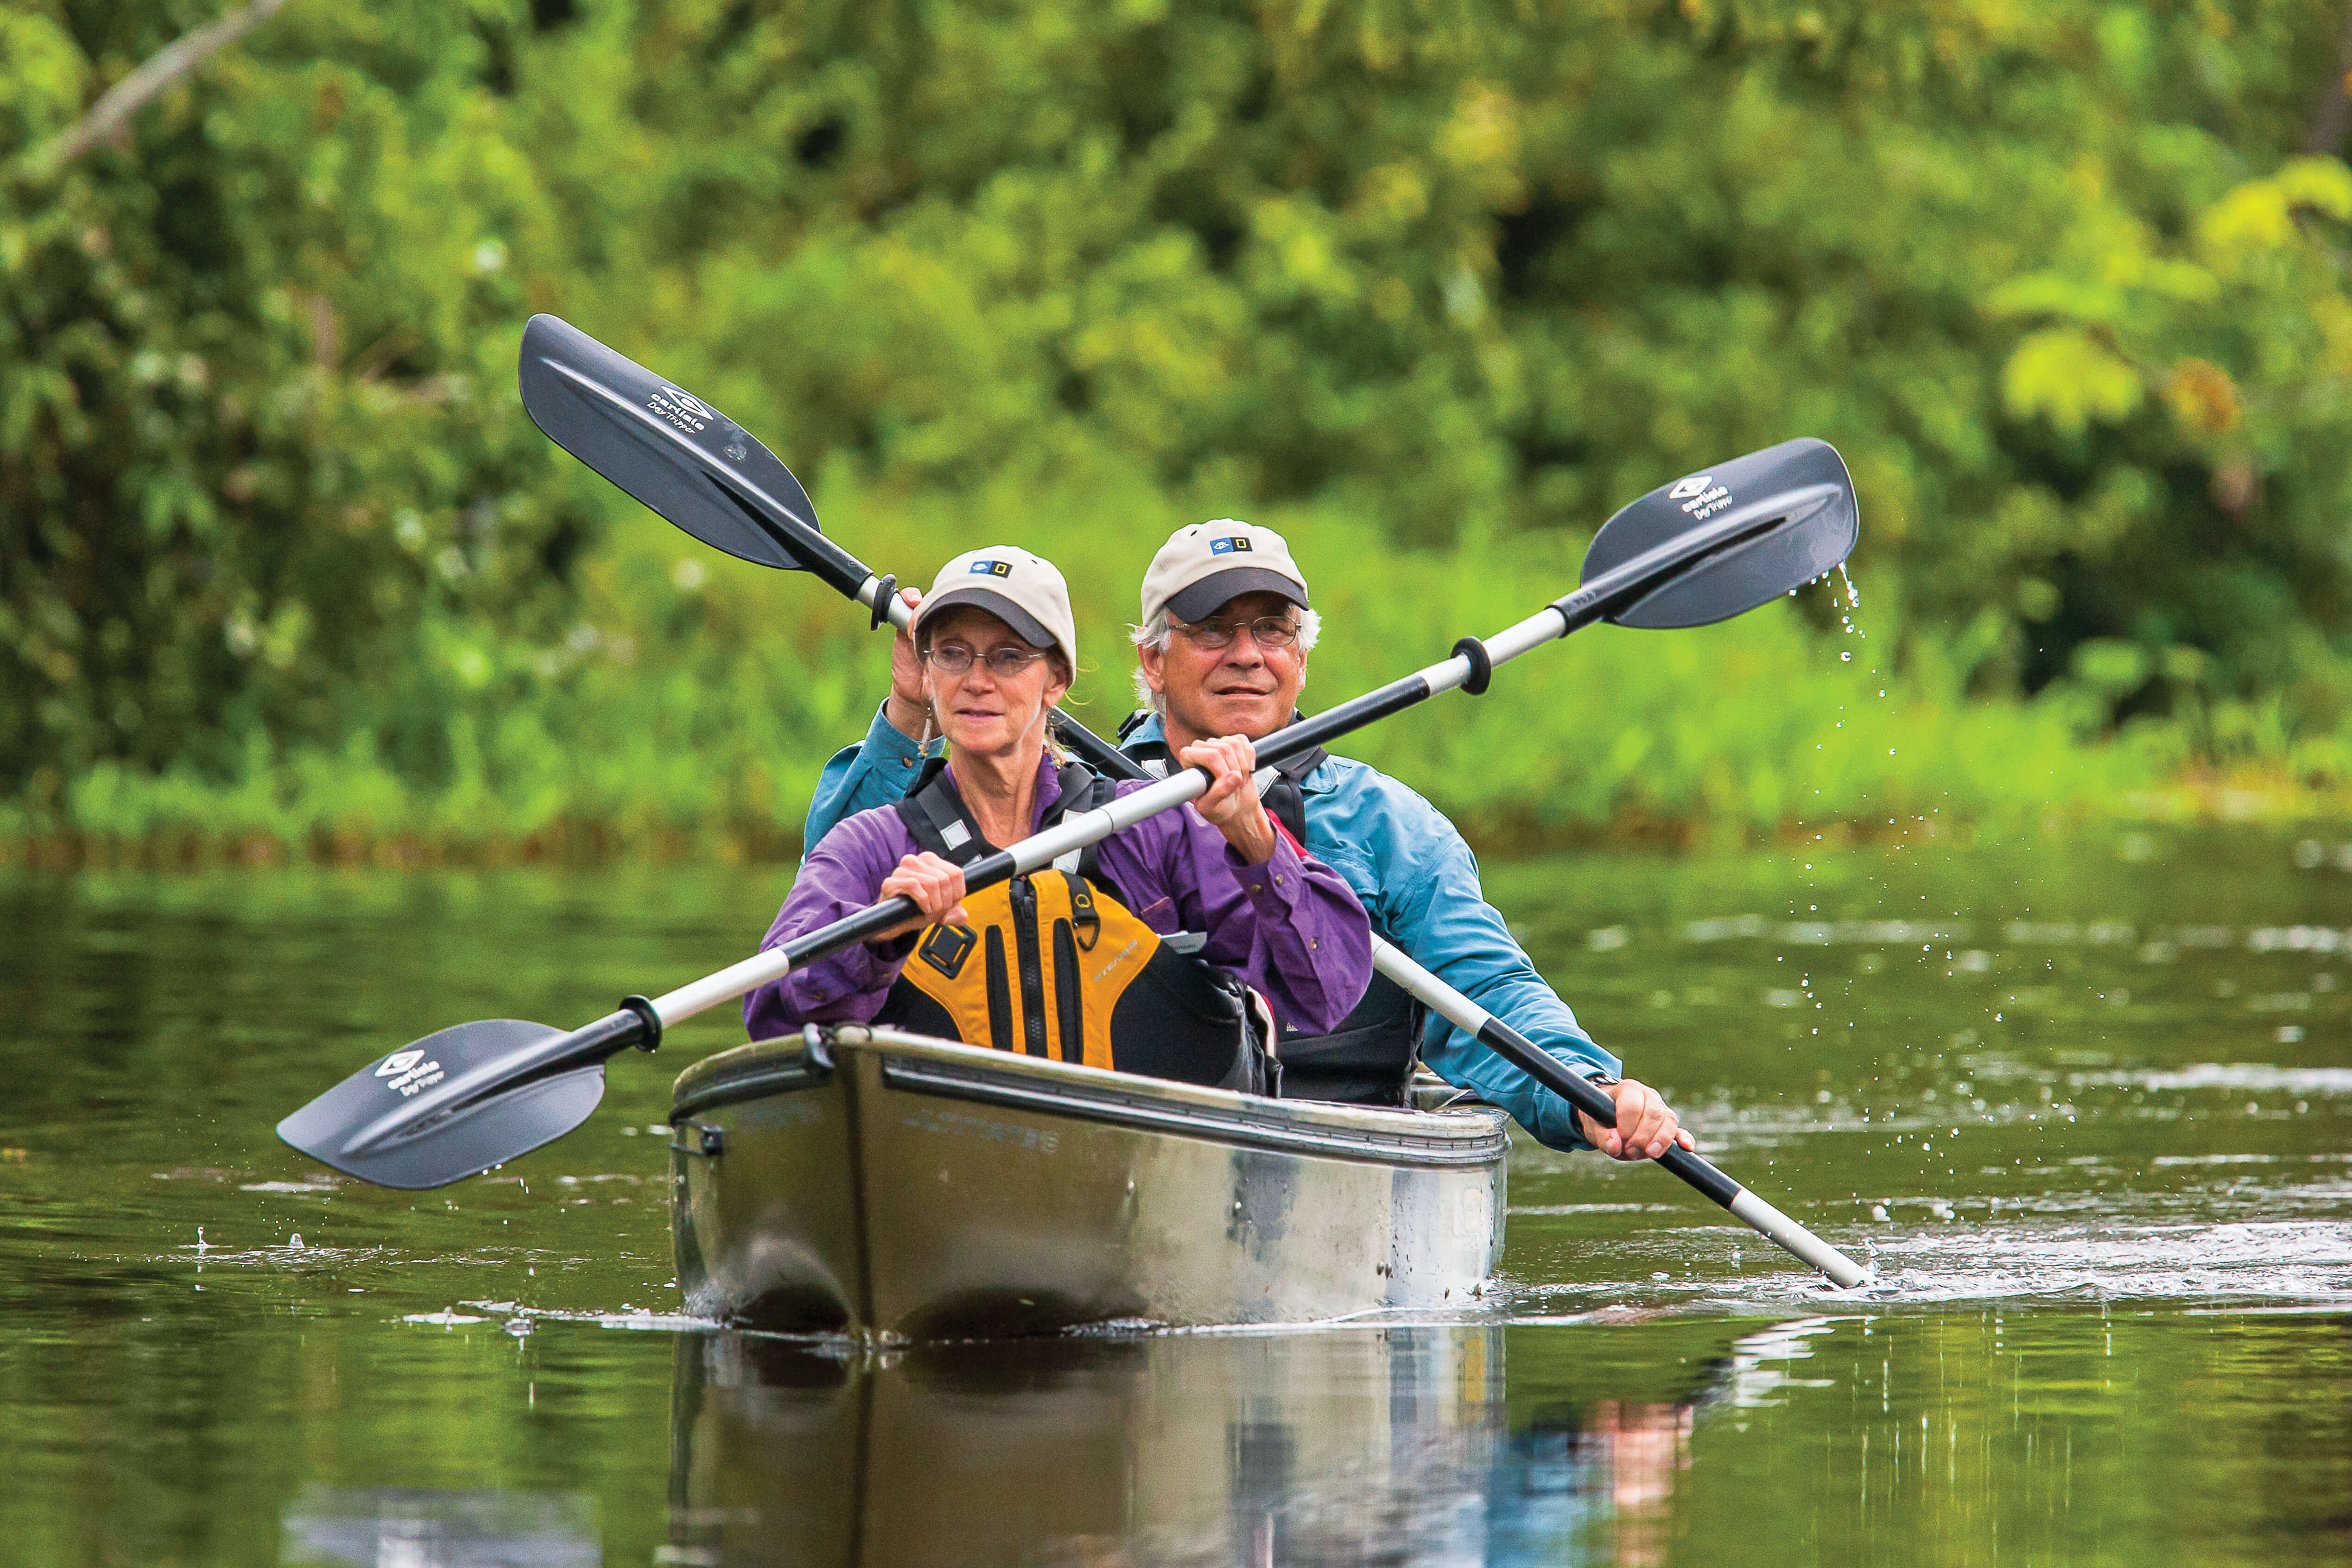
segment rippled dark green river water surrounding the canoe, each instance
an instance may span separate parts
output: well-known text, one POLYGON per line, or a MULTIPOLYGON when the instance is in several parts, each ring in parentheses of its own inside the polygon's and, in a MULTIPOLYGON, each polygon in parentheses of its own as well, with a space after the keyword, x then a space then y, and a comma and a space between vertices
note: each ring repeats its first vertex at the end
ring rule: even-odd
MULTIPOLYGON (((2345 851, 2352 860, 2352 851, 2345 851)), ((739 957, 776 872, 0 882, 0 1561, 2352 1559, 2352 872, 2124 835, 1494 867, 1595 1032, 1882 1286, 1512 1157, 1409 1328, 910 1349, 673 1316, 668 1081, 435 1194, 273 1121, 739 957)))

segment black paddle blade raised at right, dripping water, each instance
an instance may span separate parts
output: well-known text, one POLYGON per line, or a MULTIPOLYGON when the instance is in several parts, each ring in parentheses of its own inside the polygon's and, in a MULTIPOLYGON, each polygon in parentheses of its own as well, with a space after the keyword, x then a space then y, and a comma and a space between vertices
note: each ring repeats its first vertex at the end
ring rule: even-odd
POLYGON ((1799 437, 1649 491, 1592 536, 1583 581, 1733 512, 1755 527, 1609 621, 1651 630, 1729 621, 1811 583, 1860 536, 1846 458, 1830 442, 1799 437))

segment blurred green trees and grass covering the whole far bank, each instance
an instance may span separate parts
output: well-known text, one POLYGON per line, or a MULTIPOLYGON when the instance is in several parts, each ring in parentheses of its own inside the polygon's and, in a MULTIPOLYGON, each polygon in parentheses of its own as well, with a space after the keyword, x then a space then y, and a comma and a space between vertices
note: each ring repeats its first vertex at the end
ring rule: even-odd
POLYGON ((2328 7, 303 0, 24 158, 202 19, 0 0, 0 830, 788 839, 875 654, 682 585, 522 416, 529 310, 880 567, 985 522, 1115 609, 1289 522, 1334 696, 1835 440, 1891 696, 1813 602, 1367 736, 1498 832, 2347 776, 2328 7))

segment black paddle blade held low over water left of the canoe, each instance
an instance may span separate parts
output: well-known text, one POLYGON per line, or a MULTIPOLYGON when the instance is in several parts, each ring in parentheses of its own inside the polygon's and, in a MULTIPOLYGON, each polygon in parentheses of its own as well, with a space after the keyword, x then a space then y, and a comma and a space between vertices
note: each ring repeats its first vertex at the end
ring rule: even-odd
POLYGON ((447 1187, 562 1138, 604 1098, 604 1063, 546 1067, 562 1030, 461 1023, 393 1051, 278 1124, 310 1159, 379 1187, 447 1187))

